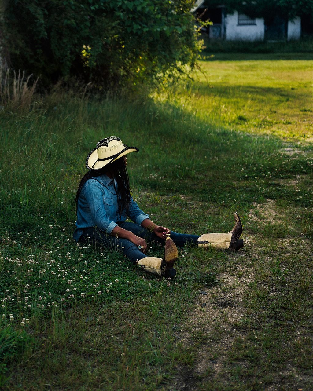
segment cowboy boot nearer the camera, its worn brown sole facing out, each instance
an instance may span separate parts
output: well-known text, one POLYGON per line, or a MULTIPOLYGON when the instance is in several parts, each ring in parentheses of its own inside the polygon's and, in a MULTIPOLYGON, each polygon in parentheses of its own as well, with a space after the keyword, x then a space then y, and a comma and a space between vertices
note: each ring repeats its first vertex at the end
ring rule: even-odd
POLYGON ((176 275, 176 269, 174 269, 173 264, 177 258, 177 247, 171 238, 166 238, 164 258, 145 256, 137 262, 137 265, 142 265, 142 269, 156 274, 157 276, 173 278, 176 275))

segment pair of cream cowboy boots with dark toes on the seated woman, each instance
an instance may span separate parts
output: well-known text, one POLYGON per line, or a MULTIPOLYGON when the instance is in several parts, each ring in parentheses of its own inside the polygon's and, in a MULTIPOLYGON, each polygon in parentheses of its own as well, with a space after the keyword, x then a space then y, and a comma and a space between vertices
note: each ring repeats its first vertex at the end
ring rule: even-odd
MULTIPOLYGON (((200 248, 208 248, 209 246, 219 250, 236 251, 243 247, 243 240, 239 239, 242 234, 242 224, 238 213, 234 213, 235 225, 231 231, 227 233, 204 233, 197 241, 200 248)), ((156 274, 160 277, 171 277, 176 275, 176 269, 173 265, 178 258, 177 248, 171 238, 166 238, 164 257, 156 258, 155 256, 147 256, 138 261, 142 269, 156 274)))

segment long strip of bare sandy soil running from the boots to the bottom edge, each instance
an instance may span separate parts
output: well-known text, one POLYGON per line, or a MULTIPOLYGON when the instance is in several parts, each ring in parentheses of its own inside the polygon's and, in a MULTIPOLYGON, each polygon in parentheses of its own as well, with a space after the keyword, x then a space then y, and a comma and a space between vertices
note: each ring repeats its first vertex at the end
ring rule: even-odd
MULTIPOLYGON (((255 246, 252 235, 245 235, 244 241, 245 248, 255 246)), ((197 390, 196 379, 205 375, 217 376, 234 338, 241 336, 236 323, 245 313, 244 291, 254 280, 254 269, 246 266, 249 259, 244 250, 230 254, 229 258, 231 271, 219 274, 218 285, 201 291, 186 325, 188 331, 179 335, 178 342, 184 344, 194 344, 196 336, 199 339, 199 350, 192 373, 183 371, 182 377, 175 382, 175 390, 197 390), (216 332, 218 341, 214 337, 216 332)), ((242 366, 245 365, 243 362, 242 366)))

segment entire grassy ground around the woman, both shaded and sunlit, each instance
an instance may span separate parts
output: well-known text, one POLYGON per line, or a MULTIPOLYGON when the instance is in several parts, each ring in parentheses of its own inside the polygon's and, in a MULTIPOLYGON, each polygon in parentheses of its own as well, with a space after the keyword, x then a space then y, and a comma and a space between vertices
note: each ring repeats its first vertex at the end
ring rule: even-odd
POLYGON ((200 62, 206 74, 194 83, 149 99, 57 91, 26 115, 0 113, 0 343, 11 329, 29 336, 12 354, 0 346, 2 389, 310 384, 313 61, 277 57, 216 56, 200 62), (76 246, 72 202, 85 158, 112 134, 139 147, 131 188, 153 221, 227 232, 238 211, 244 250, 180 250, 167 282, 118 253, 76 246), (203 289, 210 300, 197 326, 203 289), (232 292, 242 300, 235 326, 232 292))

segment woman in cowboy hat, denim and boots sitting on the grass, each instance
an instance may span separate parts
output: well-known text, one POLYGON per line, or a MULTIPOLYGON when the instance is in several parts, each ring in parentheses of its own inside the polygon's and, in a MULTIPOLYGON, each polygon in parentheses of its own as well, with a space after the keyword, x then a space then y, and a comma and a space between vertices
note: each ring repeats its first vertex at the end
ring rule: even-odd
POLYGON ((158 276, 174 277, 173 267, 178 257, 176 246, 212 246, 221 250, 237 250, 242 225, 237 213, 235 226, 228 233, 188 235, 158 226, 140 210, 130 194, 127 157, 137 152, 127 147, 119 137, 111 136, 97 142, 87 157, 89 170, 81 179, 76 193, 77 221, 74 239, 82 244, 95 244, 119 251, 128 259, 158 276), (133 222, 126 222, 130 217, 133 222), (165 243, 164 257, 147 256, 146 240, 165 243))

